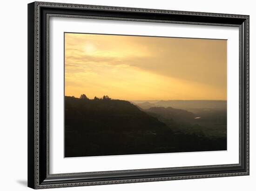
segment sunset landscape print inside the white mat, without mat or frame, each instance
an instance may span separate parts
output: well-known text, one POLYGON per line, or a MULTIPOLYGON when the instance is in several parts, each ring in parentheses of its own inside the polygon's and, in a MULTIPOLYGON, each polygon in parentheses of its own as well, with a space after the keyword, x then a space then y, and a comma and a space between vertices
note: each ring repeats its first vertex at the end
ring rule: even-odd
POLYGON ((64 71, 65 158, 227 150, 226 39, 65 32, 64 71))

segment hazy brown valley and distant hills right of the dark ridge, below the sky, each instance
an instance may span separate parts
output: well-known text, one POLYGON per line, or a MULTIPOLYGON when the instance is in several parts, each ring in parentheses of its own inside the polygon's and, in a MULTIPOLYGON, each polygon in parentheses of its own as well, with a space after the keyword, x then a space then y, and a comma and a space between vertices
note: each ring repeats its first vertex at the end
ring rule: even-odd
POLYGON ((173 126, 174 131, 226 137, 226 100, 139 100, 131 103, 173 126))

